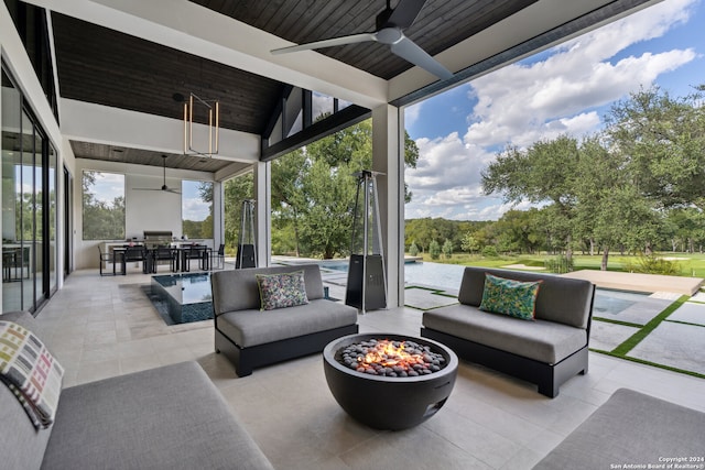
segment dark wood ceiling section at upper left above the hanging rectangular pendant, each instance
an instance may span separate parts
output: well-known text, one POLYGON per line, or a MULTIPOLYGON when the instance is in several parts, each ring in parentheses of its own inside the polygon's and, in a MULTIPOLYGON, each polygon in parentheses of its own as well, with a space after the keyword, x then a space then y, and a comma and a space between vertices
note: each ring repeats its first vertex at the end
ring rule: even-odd
POLYGON ((223 128, 259 134, 284 86, 58 13, 53 23, 59 90, 66 98, 178 118, 182 108, 172 95, 194 92, 220 100, 224 111, 235 110, 221 114, 223 128))

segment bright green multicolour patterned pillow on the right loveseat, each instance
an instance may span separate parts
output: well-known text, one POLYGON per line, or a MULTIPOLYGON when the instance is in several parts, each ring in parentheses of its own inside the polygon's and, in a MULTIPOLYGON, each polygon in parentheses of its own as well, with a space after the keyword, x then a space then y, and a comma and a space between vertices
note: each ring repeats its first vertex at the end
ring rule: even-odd
POLYGON ((533 320, 541 281, 521 282, 485 273, 480 310, 533 320))

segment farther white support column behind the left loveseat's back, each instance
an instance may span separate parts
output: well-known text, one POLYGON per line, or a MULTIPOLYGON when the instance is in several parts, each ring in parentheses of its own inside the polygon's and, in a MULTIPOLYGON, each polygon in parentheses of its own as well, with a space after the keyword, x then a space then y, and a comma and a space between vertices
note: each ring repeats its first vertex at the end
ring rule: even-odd
POLYGON ((272 205, 272 173, 269 162, 254 164, 254 199, 256 217, 254 232, 257 233, 257 263, 258 266, 269 266, 271 263, 272 248, 272 218, 270 207, 272 205))

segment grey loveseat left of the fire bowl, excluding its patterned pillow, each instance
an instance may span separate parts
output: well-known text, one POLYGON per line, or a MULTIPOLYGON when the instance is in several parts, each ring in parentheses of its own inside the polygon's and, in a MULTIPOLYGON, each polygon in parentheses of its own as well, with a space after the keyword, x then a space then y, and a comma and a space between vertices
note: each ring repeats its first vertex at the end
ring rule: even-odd
POLYGON ((356 308, 324 296, 317 264, 251 267, 210 275, 215 348, 238 376, 252 369, 321 352, 336 338, 358 332, 356 308), (302 272, 306 303, 262 310, 257 275, 302 272))

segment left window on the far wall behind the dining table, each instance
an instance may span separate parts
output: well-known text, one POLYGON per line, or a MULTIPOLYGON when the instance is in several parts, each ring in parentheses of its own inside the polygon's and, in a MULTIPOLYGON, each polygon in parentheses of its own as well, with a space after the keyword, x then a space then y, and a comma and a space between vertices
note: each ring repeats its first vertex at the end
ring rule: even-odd
POLYGON ((124 240, 124 175, 85 171, 84 240, 124 240))

